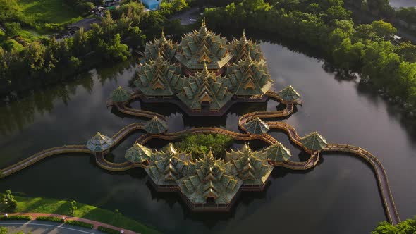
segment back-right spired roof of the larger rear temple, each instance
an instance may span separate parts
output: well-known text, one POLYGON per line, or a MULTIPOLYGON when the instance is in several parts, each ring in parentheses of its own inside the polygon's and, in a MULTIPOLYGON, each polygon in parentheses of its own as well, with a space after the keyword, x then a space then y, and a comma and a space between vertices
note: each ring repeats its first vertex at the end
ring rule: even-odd
POLYGON ((252 42, 251 39, 247 40, 247 37, 245 37, 245 31, 243 31, 241 38, 239 40, 234 39, 228 48, 236 60, 245 59, 248 55, 250 55, 252 60, 255 61, 262 61, 263 59, 263 53, 260 49, 260 45, 252 42))

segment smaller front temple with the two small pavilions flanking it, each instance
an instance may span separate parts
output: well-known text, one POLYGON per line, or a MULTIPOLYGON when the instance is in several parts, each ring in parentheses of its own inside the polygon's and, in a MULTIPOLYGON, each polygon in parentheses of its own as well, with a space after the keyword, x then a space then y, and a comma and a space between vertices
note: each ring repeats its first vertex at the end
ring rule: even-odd
POLYGON ((284 162, 291 156, 283 145, 252 151, 247 144, 216 159, 211 151, 201 159, 177 152, 173 144, 165 150, 135 144, 125 158, 146 164, 149 182, 159 192, 176 191, 192 211, 228 211, 240 191, 262 191, 273 166, 269 160, 284 162))

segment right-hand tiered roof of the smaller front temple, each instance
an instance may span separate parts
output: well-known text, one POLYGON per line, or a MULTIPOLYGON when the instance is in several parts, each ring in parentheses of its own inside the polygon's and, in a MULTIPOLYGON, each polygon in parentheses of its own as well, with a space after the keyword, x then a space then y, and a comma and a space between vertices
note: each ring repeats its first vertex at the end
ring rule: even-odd
POLYGON ((243 185, 264 185, 273 167, 267 162, 266 154, 252 152, 247 144, 237 152, 226 152, 226 161, 231 162, 233 175, 243 180, 243 185))

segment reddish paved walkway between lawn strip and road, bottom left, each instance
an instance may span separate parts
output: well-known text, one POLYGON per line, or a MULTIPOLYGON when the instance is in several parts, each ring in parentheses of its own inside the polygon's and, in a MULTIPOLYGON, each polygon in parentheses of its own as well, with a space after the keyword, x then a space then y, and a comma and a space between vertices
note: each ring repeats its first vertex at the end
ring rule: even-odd
MULTIPOLYGON (((1 214, 1 215, 4 215, 4 214, 1 214)), ((24 216, 31 216, 32 217, 32 220, 27 221, 26 223, 25 223, 25 221, 18 221, 17 222, 17 223, 23 223, 22 225, 24 225, 24 224, 32 225, 32 223, 35 222, 36 218, 39 217, 39 216, 49 216, 49 217, 56 217, 56 218, 64 217, 65 220, 76 220, 76 221, 81 221, 81 222, 84 222, 84 223, 91 223, 92 225, 94 225, 94 228, 92 228, 93 230, 97 230, 98 226, 103 226, 103 227, 111 228, 111 229, 118 230, 118 231, 123 230, 123 232, 126 233, 126 234, 137 234, 136 232, 133 232, 133 230, 126 230, 126 229, 123 229, 123 228, 118 228, 116 226, 111 226, 109 224, 101 223, 101 222, 98 222, 98 221, 93 221, 93 220, 90 220, 90 219, 66 216, 66 215, 61 215, 61 214, 43 214, 43 213, 11 213, 11 214, 9 213, 8 214, 8 216, 13 216, 13 215, 24 215, 24 216)), ((11 220, 0 221, 0 225, 5 225, 4 223, 11 223, 11 222, 12 222, 11 220)), ((42 223, 44 223, 44 222, 43 221, 36 221, 35 226, 37 226, 39 224, 42 224, 42 223), (39 223, 39 222, 41 222, 41 223, 39 223)), ((47 222, 46 224, 50 224, 50 223, 51 222, 47 222)), ((64 225, 63 223, 54 223, 54 222, 52 222, 52 223, 53 223, 54 226, 59 226, 59 227, 64 225)), ((34 225, 32 225, 32 226, 34 226, 34 225)), ((69 225, 65 224, 64 226, 66 227, 66 226, 69 226, 69 225)), ((46 227, 46 226, 44 225, 44 227, 46 227)), ((73 228, 73 227, 78 228, 78 226, 71 225, 71 228, 73 228)), ((56 227, 54 227, 54 228, 56 228, 56 227)), ((66 228, 63 228, 63 229, 66 229, 66 228)), ((78 228, 78 229, 80 229, 80 228, 78 228)), ((100 232, 97 232, 97 231, 92 232, 93 230, 88 229, 88 228, 81 228, 80 230, 84 230, 84 229, 90 231, 90 233, 100 233, 100 232)))

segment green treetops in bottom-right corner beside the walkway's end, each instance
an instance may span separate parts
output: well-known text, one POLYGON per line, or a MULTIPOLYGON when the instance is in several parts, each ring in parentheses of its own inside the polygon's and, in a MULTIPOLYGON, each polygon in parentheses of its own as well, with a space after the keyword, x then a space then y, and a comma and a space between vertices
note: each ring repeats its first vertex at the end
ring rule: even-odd
POLYGON ((415 234, 416 233, 416 216, 398 225, 393 226, 391 223, 382 221, 379 226, 372 231, 372 234, 415 234))

